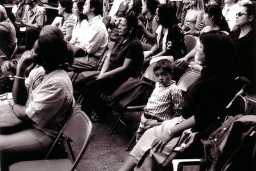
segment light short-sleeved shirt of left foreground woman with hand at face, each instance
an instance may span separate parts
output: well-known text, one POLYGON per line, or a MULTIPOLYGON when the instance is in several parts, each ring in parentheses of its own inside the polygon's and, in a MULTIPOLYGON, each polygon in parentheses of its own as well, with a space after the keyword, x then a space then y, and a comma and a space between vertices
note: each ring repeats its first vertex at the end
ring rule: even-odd
POLYGON ((33 126, 48 135, 57 135, 73 105, 72 83, 67 72, 55 70, 45 75, 41 66, 31 71, 25 83, 29 93, 26 114, 33 126))

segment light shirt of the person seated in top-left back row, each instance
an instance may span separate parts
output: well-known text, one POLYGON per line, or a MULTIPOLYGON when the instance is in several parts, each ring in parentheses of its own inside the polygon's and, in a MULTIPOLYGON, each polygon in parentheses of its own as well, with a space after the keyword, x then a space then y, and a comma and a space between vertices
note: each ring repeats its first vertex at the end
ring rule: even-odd
POLYGON ((35 6, 31 9, 29 5, 25 7, 23 22, 28 24, 33 24, 35 27, 41 29, 46 22, 46 11, 45 8, 42 6, 35 6))

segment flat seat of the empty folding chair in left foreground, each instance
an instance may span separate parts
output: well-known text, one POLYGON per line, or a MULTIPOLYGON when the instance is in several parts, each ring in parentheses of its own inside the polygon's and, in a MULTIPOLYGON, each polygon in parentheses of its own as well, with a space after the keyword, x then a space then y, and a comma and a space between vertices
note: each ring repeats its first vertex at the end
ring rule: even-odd
POLYGON ((10 165, 10 171, 64 171, 71 170, 73 163, 68 159, 58 159, 58 160, 34 160, 34 161, 20 161, 10 165))

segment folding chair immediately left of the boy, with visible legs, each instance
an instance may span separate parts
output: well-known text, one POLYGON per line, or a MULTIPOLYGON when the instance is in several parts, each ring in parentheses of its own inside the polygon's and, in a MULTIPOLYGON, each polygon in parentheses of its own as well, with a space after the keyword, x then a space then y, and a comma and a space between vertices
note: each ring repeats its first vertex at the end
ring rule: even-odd
MULTIPOLYGON (((156 63, 151 64, 150 66, 148 66, 147 70, 145 71, 145 73, 143 74, 143 77, 141 78, 141 80, 145 80, 146 82, 150 83, 150 84, 155 84, 157 82, 157 77, 156 75, 154 75, 154 66, 156 65, 156 63)), ((138 105, 138 106, 128 106, 126 107, 123 112, 118 112, 113 123, 111 124, 109 131, 110 133, 113 133, 113 130, 115 129, 115 126, 118 122, 122 123, 126 128, 129 128, 129 126, 127 126, 127 124, 122 120, 122 116, 124 115, 125 112, 142 112, 143 108, 146 106, 145 105, 138 105)), ((129 142, 126 151, 129 150, 129 148, 131 147, 132 142, 134 141, 135 137, 136 137, 136 133, 132 132, 134 135, 131 139, 131 141, 129 142)))

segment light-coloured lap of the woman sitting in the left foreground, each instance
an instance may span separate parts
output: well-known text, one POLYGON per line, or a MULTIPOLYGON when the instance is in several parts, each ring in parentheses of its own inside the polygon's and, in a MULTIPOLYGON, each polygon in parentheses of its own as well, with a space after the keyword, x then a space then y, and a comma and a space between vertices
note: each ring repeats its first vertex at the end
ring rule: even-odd
POLYGON ((15 158, 19 161, 43 159, 53 142, 54 138, 35 128, 0 135, 1 162, 10 165, 15 158))

